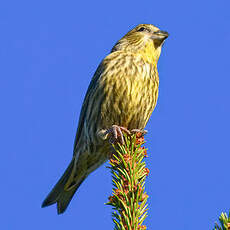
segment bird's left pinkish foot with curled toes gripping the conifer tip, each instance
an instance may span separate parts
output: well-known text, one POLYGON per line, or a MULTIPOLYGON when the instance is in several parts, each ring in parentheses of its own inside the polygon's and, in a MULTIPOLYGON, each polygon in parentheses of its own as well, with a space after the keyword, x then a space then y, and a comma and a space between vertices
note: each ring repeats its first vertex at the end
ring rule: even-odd
POLYGON ((122 126, 118 126, 118 125, 112 125, 111 128, 109 128, 107 130, 101 130, 101 131, 99 131, 98 134, 104 140, 107 139, 108 136, 110 136, 109 142, 111 144, 114 144, 115 142, 120 140, 121 144, 123 145, 125 143, 125 141, 124 141, 124 135, 122 132, 125 132, 128 135, 131 134, 128 129, 126 129, 125 127, 122 127, 122 126))

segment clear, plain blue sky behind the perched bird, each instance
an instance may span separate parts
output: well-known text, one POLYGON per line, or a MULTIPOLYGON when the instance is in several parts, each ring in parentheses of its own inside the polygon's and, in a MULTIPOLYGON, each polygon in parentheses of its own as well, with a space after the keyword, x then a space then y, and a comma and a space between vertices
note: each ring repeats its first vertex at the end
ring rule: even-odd
POLYGON ((147 129, 148 229, 212 229, 230 208, 230 2, 4 1, 0 6, 2 229, 113 229, 106 165, 64 215, 41 202, 72 156, 90 79, 139 23, 167 30, 147 129))

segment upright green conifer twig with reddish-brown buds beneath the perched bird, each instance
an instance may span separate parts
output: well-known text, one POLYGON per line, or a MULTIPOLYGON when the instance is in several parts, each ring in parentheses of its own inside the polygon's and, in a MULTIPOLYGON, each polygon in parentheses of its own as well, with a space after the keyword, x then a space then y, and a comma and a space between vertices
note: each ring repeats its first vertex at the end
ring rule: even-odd
POLYGON ((144 182, 148 174, 143 159, 146 149, 141 147, 144 138, 137 135, 124 135, 125 144, 113 145, 114 153, 110 159, 113 194, 108 205, 116 230, 146 229, 142 225, 147 217, 147 194, 144 182))

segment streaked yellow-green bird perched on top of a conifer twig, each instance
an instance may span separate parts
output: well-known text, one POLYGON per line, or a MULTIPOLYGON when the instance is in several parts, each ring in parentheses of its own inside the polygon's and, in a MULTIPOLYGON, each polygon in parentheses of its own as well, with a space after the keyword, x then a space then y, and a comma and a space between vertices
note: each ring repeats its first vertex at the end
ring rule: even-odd
POLYGON ((143 130, 156 106, 157 62, 168 33, 140 24, 122 37, 97 68, 82 105, 73 158, 42 207, 63 213, 85 178, 109 157, 122 132, 143 130))

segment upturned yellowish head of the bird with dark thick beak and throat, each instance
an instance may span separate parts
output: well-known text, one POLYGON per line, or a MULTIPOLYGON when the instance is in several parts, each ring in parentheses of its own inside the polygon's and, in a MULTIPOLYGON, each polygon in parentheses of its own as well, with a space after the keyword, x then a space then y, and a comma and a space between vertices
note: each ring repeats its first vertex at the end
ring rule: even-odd
POLYGON ((157 62, 161 47, 168 36, 166 31, 151 24, 140 24, 121 38, 113 47, 112 52, 121 50, 139 53, 149 61, 157 62))

